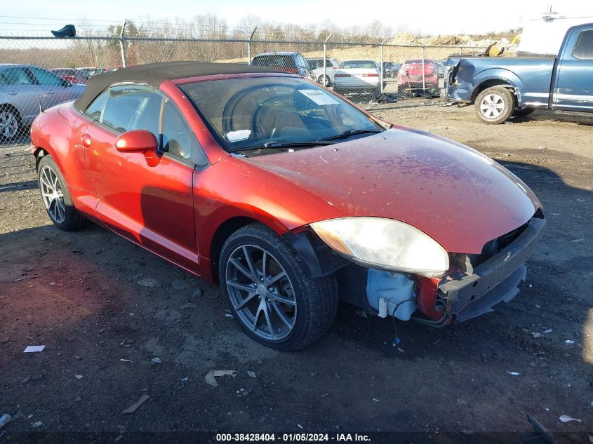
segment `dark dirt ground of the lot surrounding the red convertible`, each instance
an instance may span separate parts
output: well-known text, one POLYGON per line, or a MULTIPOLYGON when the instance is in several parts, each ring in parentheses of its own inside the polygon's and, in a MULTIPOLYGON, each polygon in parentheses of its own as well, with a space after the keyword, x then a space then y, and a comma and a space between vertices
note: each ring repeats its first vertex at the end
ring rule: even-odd
MULTIPOLYGON (((431 100, 366 107, 479 149, 538 194, 545 238, 512 302, 453 328, 397 323, 404 352, 392 346, 391 321, 342 304, 317 344, 273 351, 225 316, 218 288, 99 227, 55 229, 27 147, 2 147, 0 416, 13 420, 0 443, 27 431, 112 433, 107 442, 121 433, 124 443, 138 431, 397 431, 428 433, 408 441, 484 442, 481 432, 530 431, 527 414, 559 443, 588 443, 593 118, 545 112, 486 126, 472 108, 431 100), (158 286, 141 285, 147 277, 158 286), (29 344, 46 347, 23 354, 29 344), (238 374, 214 388, 209 370, 238 374), (122 414, 143 393, 148 401, 122 414)), ((194 442, 208 437, 215 442, 194 442)))

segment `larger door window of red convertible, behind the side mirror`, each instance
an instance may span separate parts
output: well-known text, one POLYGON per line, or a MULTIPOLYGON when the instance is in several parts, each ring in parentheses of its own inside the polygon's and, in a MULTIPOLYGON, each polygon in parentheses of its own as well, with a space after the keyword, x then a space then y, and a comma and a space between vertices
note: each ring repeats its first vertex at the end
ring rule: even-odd
POLYGON ((101 123, 121 133, 149 130, 159 136, 162 96, 145 85, 119 85, 109 88, 101 123))

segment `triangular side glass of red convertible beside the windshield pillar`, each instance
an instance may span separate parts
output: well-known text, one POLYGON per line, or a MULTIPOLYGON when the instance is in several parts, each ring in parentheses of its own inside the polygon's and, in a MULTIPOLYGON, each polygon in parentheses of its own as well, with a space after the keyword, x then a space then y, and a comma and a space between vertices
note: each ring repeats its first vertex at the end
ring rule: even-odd
POLYGON ((165 103, 162 137, 162 147, 168 154, 192 161, 192 153, 196 153, 196 157, 204 158, 196 159, 196 164, 208 163, 192 129, 171 100, 165 103))

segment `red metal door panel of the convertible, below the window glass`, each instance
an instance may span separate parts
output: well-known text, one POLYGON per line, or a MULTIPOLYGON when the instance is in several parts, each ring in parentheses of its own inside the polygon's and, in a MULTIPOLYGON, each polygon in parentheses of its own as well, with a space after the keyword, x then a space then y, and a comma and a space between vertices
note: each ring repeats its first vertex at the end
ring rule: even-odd
POLYGON ((114 149, 116 135, 98 125, 91 125, 88 135, 86 169, 99 196, 95 212, 100 220, 121 236, 194 268, 194 168, 166 156, 155 163, 143 153, 121 153, 114 149))

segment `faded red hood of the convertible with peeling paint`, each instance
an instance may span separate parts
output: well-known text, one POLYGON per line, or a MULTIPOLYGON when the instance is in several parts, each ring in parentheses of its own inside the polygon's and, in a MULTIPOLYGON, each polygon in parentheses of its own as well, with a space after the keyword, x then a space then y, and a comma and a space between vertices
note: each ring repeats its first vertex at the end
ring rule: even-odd
POLYGON ((540 206, 526 184, 483 154, 406 128, 247 161, 347 216, 411 224, 451 253, 481 253, 540 206))

